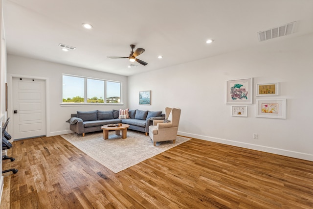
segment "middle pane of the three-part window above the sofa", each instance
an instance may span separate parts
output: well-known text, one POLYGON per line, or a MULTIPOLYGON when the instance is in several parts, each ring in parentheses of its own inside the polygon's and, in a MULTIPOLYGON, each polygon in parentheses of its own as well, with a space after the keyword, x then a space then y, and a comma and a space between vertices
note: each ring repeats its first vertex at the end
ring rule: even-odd
POLYGON ((104 103, 104 81, 87 79, 87 102, 104 103))

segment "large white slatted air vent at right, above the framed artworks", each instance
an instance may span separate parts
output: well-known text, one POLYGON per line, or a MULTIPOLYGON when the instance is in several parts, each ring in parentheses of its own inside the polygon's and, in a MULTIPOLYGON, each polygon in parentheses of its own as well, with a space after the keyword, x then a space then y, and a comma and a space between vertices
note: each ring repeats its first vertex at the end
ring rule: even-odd
POLYGON ((274 27, 265 31, 258 32, 259 41, 266 41, 268 39, 273 39, 281 36, 287 36, 293 33, 296 22, 284 24, 278 27, 274 27))

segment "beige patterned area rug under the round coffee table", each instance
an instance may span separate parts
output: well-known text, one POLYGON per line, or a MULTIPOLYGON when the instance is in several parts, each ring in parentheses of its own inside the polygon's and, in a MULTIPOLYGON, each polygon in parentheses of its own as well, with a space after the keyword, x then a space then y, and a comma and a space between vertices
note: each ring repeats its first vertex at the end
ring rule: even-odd
POLYGON ((114 173, 191 139, 178 136, 175 144, 172 141, 163 141, 153 146, 153 141, 145 133, 131 130, 127 131, 126 139, 115 135, 115 131, 109 131, 109 139, 106 140, 103 139, 102 132, 87 133, 85 137, 81 134, 67 134, 61 137, 114 173))

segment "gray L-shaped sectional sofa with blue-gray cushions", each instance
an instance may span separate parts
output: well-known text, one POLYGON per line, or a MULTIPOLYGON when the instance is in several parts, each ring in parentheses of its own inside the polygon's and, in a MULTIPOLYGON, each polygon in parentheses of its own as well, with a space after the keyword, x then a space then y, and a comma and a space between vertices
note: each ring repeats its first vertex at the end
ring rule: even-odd
POLYGON ((119 110, 77 111, 76 114, 71 114, 67 122, 71 131, 83 136, 85 133, 101 131, 101 126, 111 123, 125 123, 130 125, 128 129, 145 132, 148 135, 149 126, 153 125, 154 119, 165 119, 162 111, 129 110, 129 117, 119 119, 119 110))

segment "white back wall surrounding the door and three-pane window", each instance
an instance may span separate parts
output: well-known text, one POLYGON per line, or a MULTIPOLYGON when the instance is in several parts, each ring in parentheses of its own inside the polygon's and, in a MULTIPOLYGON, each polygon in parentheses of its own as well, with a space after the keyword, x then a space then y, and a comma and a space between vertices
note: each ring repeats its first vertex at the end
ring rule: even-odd
MULTIPOLYGON (((55 136, 71 133, 69 123, 65 122, 70 118, 70 114, 76 111, 91 110, 112 110, 127 107, 127 77, 104 73, 95 70, 82 69, 67 65, 45 62, 8 54, 7 73, 9 87, 9 110, 8 116, 13 118, 11 108, 12 100, 12 77, 27 77, 46 80, 46 116, 47 116, 47 136, 55 136), (62 73, 86 76, 91 78, 108 79, 122 82, 123 102, 121 105, 85 105, 85 106, 62 106, 62 73), (9 79, 10 78, 10 79, 9 79)), ((14 128, 14 127, 10 127, 14 128)), ((13 133, 13 131, 11 131, 13 133)))

